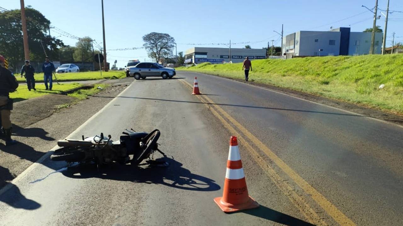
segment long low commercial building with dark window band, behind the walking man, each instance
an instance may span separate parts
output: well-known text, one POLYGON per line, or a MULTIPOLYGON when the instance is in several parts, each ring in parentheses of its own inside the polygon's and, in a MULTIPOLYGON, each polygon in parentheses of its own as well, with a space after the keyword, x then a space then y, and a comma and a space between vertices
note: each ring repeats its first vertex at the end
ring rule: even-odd
POLYGON ((193 47, 185 52, 185 63, 203 63, 210 62, 212 64, 222 64, 224 62, 233 63, 243 62, 246 57, 249 60, 266 59, 266 49, 240 49, 231 48, 231 57, 229 48, 209 48, 209 47, 193 47))

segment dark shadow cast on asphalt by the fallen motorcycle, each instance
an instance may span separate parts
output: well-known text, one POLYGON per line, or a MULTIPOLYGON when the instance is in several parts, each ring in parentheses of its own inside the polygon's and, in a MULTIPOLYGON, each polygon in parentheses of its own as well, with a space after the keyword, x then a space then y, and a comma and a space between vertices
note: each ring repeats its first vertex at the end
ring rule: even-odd
POLYGON ((159 167, 146 164, 133 166, 130 164, 111 164, 97 171, 95 164, 79 164, 70 166, 62 174, 76 179, 100 178, 116 181, 132 181, 134 183, 161 184, 193 191, 216 191, 220 186, 214 180, 191 173, 183 164, 173 158, 159 158, 168 162, 169 166, 159 167))

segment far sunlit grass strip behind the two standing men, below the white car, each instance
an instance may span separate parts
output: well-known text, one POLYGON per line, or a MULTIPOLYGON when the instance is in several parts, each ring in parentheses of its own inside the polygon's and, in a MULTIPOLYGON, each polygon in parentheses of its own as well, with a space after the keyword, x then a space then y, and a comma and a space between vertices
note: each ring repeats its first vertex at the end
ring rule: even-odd
MULTIPOLYGON (((79 72, 79 73, 56 73, 56 78, 59 82, 62 81, 82 81, 82 80, 97 80, 97 79, 118 79, 124 78, 126 74, 124 71, 108 71, 102 72, 102 76, 100 72, 79 72)), ((25 78, 16 74, 16 78, 18 81, 25 81, 25 78)), ((35 81, 43 82, 44 74, 43 73, 35 73, 35 81)), ((56 82, 53 76, 53 82, 56 82)))

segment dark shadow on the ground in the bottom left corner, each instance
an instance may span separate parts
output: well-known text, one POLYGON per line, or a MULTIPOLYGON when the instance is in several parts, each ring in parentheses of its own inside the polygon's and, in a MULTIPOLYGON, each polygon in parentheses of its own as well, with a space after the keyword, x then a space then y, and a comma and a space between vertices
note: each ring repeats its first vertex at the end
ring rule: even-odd
MULTIPOLYGON (((0 186, 5 184, 5 181, 10 181, 14 179, 10 171, 7 168, 0 166, 0 186)), ((4 202, 14 208, 25 209, 25 210, 35 210, 41 207, 41 204, 27 199, 23 194, 21 194, 20 189, 12 184, 6 186, 11 186, 5 193, 0 195, 0 202, 4 202)))

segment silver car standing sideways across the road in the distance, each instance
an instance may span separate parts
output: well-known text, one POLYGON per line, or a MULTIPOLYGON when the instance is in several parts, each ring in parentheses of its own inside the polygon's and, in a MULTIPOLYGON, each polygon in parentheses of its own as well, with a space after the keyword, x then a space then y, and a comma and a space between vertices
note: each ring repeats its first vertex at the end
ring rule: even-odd
POLYGON ((172 78, 176 71, 174 68, 164 67, 161 64, 143 62, 129 69, 130 76, 139 80, 147 77, 162 77, 163 79, 172 78))

